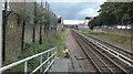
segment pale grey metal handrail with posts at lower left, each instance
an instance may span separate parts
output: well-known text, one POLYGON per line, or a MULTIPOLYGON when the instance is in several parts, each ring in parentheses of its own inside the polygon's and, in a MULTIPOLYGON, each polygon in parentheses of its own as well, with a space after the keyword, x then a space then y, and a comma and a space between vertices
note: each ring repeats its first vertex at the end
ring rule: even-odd
MULTIPOLYGON (((14 67, 14 66, 17 66, 17 65, 19 65, 19 64, 24 63, 24 73, 27 74, 28 61, 29 61, 29 60, 32 60, 32 59, 34 59, 34 57, 38 57, 38 56, 40 56, 40 65, 39 65, 37 68, 38 68, 38 70, 40 68, 40 71, 42 71, 42 65, 44 65, 44 63, 49 62, 49 60, 51 60, 52 57, 54 57, 55 54, 57 54, 57 46, 53 47, 53 49, 50 49, 50 50, 48 50, 48 51, 41 52, 41 53, 39 53, 39 54, 34 54, 34 55, 32 55, 32 56, 25 57, 25 59, 23 59, 23 60, 20 60, 20 61, 18 61, 18 62, 14 62, 14 63, 9 64, 9 65, 7 65, 7 66, 0 67, 0 73, 4 72, 6 70, 12 68, 12 67, 14 67), (53 51, 53 53, 51 54, 51 56, 49 56, 49 53, 52 52, 52 51, 53 51), (48 53, 48 59, 47 59, 44 62, 42 62, 42 59, 43 59, 42 55, 45 54, 45 53, 48 53)), ((55 57, 54 57, 54 59, 55 59, 55 57)), ((48 64, 48 67, 49 67, 49 64, 48 64)), ((35 71, 37 71, 37 68, 35 68, 35 71)), ((44 70, 44 71, 45 71, 45 70, 44 70)), ((34 72, 33 72, 33 73, 34 73, 34 72)), ((32 73, 31 73, 31 74, 32 74, 32 73)))

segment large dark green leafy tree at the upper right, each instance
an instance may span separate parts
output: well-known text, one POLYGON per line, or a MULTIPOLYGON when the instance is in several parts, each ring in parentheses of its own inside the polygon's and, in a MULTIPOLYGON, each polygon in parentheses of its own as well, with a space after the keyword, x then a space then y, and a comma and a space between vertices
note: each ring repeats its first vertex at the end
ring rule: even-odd
POLYGON ((108 25, 132 22, 132 6, 133 2, 105 2, 99 10, 99 20, 108 25))

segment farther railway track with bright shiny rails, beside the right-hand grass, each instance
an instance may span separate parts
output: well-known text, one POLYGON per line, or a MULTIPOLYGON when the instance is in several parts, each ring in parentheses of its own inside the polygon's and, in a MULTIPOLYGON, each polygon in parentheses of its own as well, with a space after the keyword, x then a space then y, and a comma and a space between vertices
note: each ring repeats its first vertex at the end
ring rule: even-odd
POLYGON ((93 43, 95 43, 95 44, 98 43, 96 45, 104 49, 103 51, 110 53, 110 54, 106 53, 106 55, 109 55, 109 56, 112 55, 113 57, 115 57, 115 61, 121 63, 125 67, 125 70, 127 70, 127 71, 133 70, 133 52, 132 51, 122 49, 117 45, 113 45, 111 43, 99 40, 96 38, 88 35, 88 34, 84 34, 84 35, 86 35, 89 39, 92 39, 93 43))

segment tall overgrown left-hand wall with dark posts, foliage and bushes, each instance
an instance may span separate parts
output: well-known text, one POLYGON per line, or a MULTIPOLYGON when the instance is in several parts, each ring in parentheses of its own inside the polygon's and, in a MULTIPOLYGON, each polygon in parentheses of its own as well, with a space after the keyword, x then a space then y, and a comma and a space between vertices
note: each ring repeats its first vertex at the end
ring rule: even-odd
MULTIPOLYGON (((45 2, 45 6, 48 4, 45 2)), ((8 21, 3 27, 3 65, 52 47, 55 38, 51 41, 50 38, 43 36, 48 36, 51 32, 55 33, 58 27, 57 15, 48 10, 49 7, 42 7, 42 2, 12 3, 10 7, 11 13, 6 15, 9 19, 3 20, 3 22, 8 21)))

